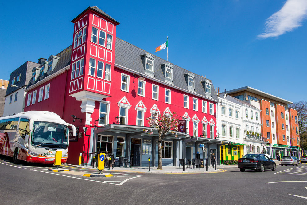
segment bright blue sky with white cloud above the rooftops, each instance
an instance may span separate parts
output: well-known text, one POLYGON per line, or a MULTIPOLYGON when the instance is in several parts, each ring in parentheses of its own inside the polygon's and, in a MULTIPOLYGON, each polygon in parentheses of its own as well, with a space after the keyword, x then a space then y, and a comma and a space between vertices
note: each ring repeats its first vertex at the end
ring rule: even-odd
POLYGON ((307 101, 306 0, 1 1, 1 75, 72 44, 71 20, 98 6, 120 22, 117 37, 211 79, 289 101, 307 101), (111 3, 109 3, 111 2, 111 3))

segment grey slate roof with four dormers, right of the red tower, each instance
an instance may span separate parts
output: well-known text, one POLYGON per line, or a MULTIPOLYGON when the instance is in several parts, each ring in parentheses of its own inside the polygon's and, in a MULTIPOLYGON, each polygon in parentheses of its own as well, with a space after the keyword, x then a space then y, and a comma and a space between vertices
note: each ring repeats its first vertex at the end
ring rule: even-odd
MULTIPOLYGON (((135 70, 138 73, 141 73, 143 71, 144 73, 144 66, 142 64, 142 59, 141 59, 141 55, 149 53, 143 49, 140 49, 138 47, 136 47, 135 45, 132 45, 126 41, 123 41, 120 38, 116 37, 116 44, 115 44, 115 64, 135 70)), ((153 55, 153 57, 155 58, 154 60, 154 76, 157 80, 165 81, 162 69, 161 69, 161 64, 163 63, 170 63, 168 61, 165 61, 155 55, 153 55)), ((171 63, 172 64, 172 63, 171 63)), ((188 90, 188 85, 186 83, 185 80, 185 76, 184 74, 187 73, 192 73, 184 68, 181 68, 177 65, 173 65, 173 85, 186 90, 187 92, 189 92, 188 90)), ((211 97, 209 97, 209 99, 219 102, 219 99, 216 95, 216 91, 214 89, 214 86, 212 84, 212 81, 202 77, 200 75, 197 75, 196 73, 193 73, 193 75, 195 76, 194 79, 194 85, 195 85, 195 93, 198 95, 203 96, 204 98, 208 99, 208 96, 206 96, 206 93, 204 91, 203 85, 202 85, 202 81, 210 81, 211 82, 211 97)), ((170 86, 172 86, 170 84, 170 86)))

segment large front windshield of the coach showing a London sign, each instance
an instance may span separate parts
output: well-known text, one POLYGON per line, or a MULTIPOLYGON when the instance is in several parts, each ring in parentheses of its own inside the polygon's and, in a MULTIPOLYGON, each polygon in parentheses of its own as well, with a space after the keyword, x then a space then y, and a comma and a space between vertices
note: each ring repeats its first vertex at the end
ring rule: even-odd
POLYGON ((31 141, 35 146, 64 149, 68 146, 68 127, 64 124, 34 121, 32 133, 31 141))

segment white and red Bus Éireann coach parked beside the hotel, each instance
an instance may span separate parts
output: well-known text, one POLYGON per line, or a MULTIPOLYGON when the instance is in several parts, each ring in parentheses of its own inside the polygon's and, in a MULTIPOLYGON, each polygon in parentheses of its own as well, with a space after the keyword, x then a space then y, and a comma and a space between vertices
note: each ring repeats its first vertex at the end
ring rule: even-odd
POLYGON ((48 111, 21 112, 0 118, 0 154, 13 157, 14 163, 54 164, 55 153, 62 151, 67 161, 68 126, 76 136, 76 127, 48 111))

